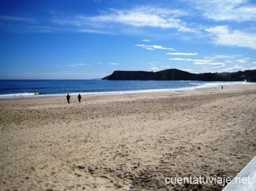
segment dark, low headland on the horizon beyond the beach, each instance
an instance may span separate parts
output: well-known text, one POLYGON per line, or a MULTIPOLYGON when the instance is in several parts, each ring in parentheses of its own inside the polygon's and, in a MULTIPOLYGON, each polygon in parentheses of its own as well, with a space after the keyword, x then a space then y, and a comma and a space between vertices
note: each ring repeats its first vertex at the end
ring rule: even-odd
POLYGON ((256 70, 234 73, 194 74, 183 70, 167 69, 161 71, 114 71, 102 78, 104 80, 201 80, 201 81, 242 81, 256 82, 256 70))

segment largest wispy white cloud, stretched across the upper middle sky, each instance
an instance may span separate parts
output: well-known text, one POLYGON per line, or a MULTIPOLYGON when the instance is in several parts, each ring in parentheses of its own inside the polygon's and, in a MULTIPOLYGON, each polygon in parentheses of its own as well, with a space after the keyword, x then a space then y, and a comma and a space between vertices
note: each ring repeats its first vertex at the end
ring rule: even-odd
POLYGON ((124 24, 133 27, 174 28, 180 32, 196 32, 195 29, 188 28, 184 22, 177 19, 177 17, 184 15, 186 13, 181 10, 140 6, 131 10, 109 9, 97 16, 77 15, 68 17, 62 15, 53 18, 52 22, 76 27, 109 27, 109 24, 124 24))

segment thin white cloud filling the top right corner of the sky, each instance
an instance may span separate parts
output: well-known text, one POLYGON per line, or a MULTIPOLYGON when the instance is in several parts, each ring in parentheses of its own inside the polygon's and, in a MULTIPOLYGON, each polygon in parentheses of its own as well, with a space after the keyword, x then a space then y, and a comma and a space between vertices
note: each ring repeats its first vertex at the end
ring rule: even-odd
POLYGON ((204 11, 204 17, 216 21, 255 21, 255 3, 249 0, 197 0, 191 1, 196 9, 204 11))

